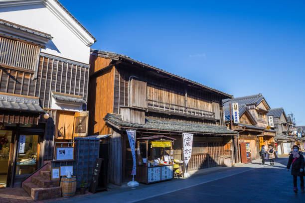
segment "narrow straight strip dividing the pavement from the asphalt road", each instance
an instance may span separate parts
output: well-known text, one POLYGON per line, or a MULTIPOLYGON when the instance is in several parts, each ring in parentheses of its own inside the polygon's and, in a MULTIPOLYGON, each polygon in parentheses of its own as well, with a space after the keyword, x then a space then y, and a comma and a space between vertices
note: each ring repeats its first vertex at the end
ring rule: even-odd
MULTIPOLYGON (((287 161, 287 160, 283 160, 281 162, 276 162, 276 163, 282 163, 284 161, 287 161)), ((180 191, 180 190, 188 189, 188 188, 199 186, 199 185, 206 184, 206 183, 209 183, 209 182, 213 182, 213 181, 217 181, 217 180, 220 180, 220 179, 224 179, 224 178, 228 178, 228 177, 231 177, 231 176, 235 176, 235 175, 238 175, 238 174, 241 174, 241 173, 245 173, 245 172, 248 172, 248 171, 252 171, 252 170, 255 170, 255 169, 260 169, 260 168, 263 168, 263 167, 266 167, 266 166, 269 166, 269 165, 262 165, 262 166, 257 167, 257 168, 251 168, 251 169, 246 170, 246 171, 230 174, 230 175, 227 175, 227 176, 224 176, 224 177, 221 177, 221 178, 216 178, 216 179, 213 179, 213 180, 209 180, 209 181, 193 184, 191 186, 186 186, 184 188, 179 188, 179 189, 172 190, 172 191, 169 191, 169 192, 159 193, 157 195, 152 195, 152 196, 149 196, 149 197, 146 197, 146 198, 142 198, 142 199, 139 199, 139 200, 133 200, 133 201, 129 201, 129 202, 126 202, 126 203, 140 202, 140 201, 147 200, 147 199, 150 199, 150 198, 158 197, 158 196, 161 196, 161 195, 166 195, 166 194, 169 194, 169 193, 177 192, 177 191, 180 191)), ((236 167, 236 168, 239 168, 239 167, 236 167)))

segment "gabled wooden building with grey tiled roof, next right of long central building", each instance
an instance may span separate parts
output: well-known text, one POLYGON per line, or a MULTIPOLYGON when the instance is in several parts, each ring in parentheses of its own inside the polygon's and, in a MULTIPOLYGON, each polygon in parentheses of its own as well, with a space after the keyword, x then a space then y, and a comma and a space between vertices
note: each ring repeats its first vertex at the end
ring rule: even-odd
MULTIPOLYGON (((238 103, 239 123, 234 123, 233 130, 239 132, 239 143, 249 142, 251 159, 259 159, 260 144, 259 137, 263 137, 264 145, 274 146, 275 130, 267 129, 267 113, 270 106, 262 94, 233 98, 224 101, 226 123, 230 126, 230 104, 238 103)), ((233 112, 233 109, 232 109, 233 112)))

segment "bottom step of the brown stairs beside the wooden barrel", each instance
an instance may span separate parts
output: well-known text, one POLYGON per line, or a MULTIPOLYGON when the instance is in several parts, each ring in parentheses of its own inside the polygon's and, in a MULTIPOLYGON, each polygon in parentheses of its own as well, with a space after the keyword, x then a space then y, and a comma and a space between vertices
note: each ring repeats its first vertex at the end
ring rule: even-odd
POLYGON ((61 197, 61 187, 40 188, 34 183, 23 183, 22 188, 33 200, 47 200, 61 197))

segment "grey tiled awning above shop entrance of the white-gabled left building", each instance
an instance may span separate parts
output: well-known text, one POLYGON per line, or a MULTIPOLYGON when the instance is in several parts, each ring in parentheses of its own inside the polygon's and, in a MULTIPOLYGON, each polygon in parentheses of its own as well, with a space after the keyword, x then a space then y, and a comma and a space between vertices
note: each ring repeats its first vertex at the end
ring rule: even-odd
POLYGON ((0 94, 0 122, 38 124, 44 110, 38 98, 13 94, 0 94))

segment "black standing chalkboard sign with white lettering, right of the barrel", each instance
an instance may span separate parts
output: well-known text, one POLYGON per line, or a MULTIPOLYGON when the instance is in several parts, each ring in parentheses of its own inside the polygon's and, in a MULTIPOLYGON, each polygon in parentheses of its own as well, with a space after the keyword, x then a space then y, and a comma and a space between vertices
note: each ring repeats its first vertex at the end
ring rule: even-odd
POLYGON ((89 187, 90 193, 107 190, 105 171, 104 159, 96 158, 89 187))

